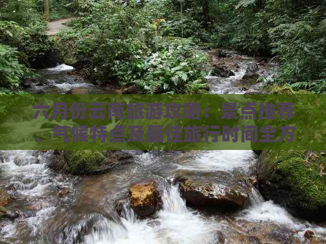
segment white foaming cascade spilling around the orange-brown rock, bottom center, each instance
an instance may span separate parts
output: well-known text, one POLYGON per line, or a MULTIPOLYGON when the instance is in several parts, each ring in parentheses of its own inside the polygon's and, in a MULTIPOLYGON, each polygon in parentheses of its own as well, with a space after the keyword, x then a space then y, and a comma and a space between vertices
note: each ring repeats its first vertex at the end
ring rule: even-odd
POLYGON ((84 236, 85 244, 211 244, 212 225, 199 214, 189 211, 180 197, 178 186, 167 187, 162 193, 163 206, 156 218, 135 218, 129 204, 123 206, 120 223, 101 218, 84 236))

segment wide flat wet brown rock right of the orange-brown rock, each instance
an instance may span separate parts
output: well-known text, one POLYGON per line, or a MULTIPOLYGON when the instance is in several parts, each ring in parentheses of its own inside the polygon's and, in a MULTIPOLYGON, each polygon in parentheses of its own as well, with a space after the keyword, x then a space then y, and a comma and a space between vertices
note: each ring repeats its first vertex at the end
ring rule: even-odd
POLYGON ((196 207, 241 208, 249 195, 241 187, 228 187, 215 182, 200 182, 187 179, 180 182, 181 197, 187 204, 196 207))

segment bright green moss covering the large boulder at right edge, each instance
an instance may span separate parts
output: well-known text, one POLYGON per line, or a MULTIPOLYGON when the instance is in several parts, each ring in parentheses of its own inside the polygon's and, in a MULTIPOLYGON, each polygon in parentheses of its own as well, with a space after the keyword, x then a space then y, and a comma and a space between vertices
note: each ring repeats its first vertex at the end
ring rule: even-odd
POLYGON ((303 150, 270 151, 269 162, 275 170, 271 181, 288 189, 298 206, 312 211, 326 206, 326 168, 323 156, 306 156, 303 150), (322 173, 321 173, 322 172, 322 173))

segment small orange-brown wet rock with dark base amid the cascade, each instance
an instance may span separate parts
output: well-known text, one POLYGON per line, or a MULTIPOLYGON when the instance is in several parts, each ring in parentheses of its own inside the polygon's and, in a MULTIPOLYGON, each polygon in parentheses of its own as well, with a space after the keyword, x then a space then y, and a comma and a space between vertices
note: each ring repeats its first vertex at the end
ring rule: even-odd
POLYGON ((155 214, 162 205, 156 180, 131 186, 129 196, 131 208, 141 219, 155 214))

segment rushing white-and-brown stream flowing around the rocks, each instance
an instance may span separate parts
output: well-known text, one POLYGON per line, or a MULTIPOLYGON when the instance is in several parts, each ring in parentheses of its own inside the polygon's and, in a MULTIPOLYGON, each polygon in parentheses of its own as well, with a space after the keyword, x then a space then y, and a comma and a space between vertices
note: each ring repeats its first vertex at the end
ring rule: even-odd
MULTIPOLYGON (((249 90, 238 86, 254 58, 230 52, 225 62, 237 67, 231 67, 234 76, 208 76, 211 93, 244 94, 262 89, 263 84, 249 90)), ((266 64, 259 72, 268 79, 275 68, 266 64)), ((65 94, 75 88, 89 94, 110 90, 67 74, 72 69, 61 65, 42 70, 39 83, 27 90, 45 94, 65 94)), ((178 185, 172 184, 180 175, 238 184, 255 175, 257 156, 251 150, 128 152, 134 156, 132 164, 102 175, 73 177, 48 169, 51 152, 0 151, 0 187, 14 197, 9 207, 20 216, 15 221, 0 220, 0 244, 311 243, 304 237, 306 230, 318 237, 314 243, 326 243, 326 227, 294 218, 273 201, 264 201, 254 187, 242 209, 224 211, 186 206, 178 185), (130 185, 147 179, 161 182, 161 210, 154 218, 139 220, 124 203, 119 217, 115 202, 128 196, 130 185), (61 195, 65 189, 68 194, 61 195)))

